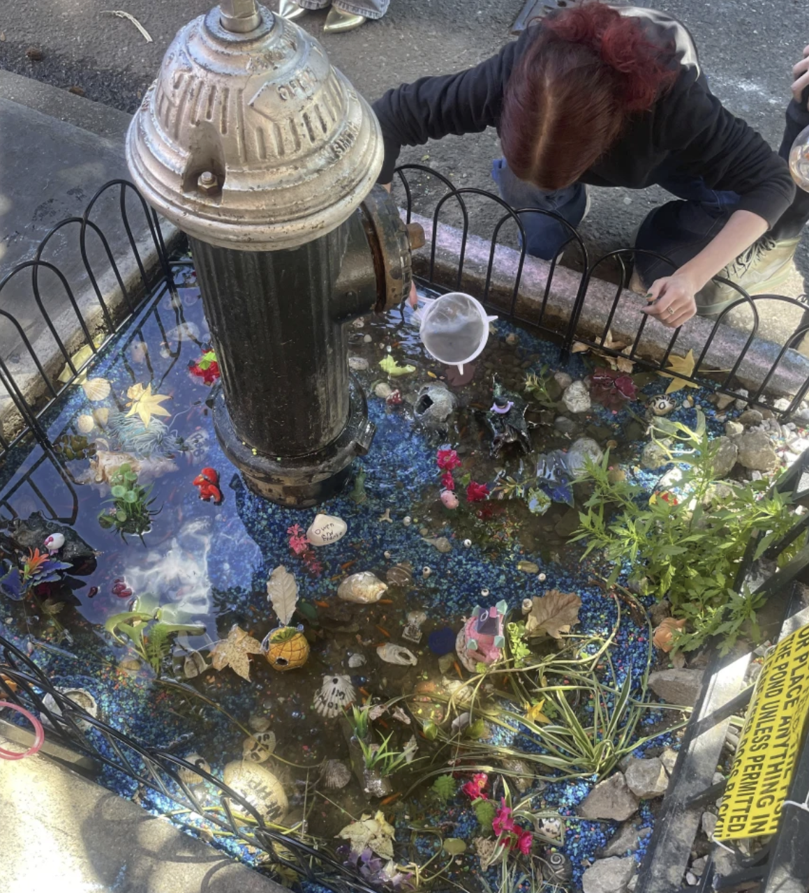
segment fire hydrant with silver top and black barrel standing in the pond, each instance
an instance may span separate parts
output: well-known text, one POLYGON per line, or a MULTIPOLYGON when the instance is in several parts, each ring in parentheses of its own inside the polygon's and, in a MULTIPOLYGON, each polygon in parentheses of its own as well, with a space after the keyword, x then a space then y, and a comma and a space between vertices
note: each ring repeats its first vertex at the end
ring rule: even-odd
POLYGON ((374 437, 346 323, 409 293, 383 141, 323 47, 256 0, 183 27, 127 135, 131 177, 190 241, 221 384, 214 426, 251 490, 306 507, 374 437))

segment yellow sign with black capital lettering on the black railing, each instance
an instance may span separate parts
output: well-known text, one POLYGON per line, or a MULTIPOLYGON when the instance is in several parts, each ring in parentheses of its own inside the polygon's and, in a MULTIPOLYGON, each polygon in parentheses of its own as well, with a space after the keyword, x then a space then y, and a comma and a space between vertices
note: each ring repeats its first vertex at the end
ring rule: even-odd
POLYGON ((809 626, 781 641, 764 662, 722 797, 714 839, 775 833, 807 717, 809 626))

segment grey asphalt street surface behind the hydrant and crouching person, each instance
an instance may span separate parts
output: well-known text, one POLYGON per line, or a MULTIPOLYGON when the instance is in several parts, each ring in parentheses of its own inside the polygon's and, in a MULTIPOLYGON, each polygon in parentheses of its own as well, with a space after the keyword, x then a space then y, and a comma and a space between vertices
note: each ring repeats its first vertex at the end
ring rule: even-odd
MULTIPOLYGON (((151 43, 131 21, 105 12, 114 5, 110 0, 7 0, 0 9, 0 67, 78 89, 90 99, 132 112, 176 30, 205 13, 213 0, 117 2, 147 29, 151 43), (40 51, 40 61, 29 59, 30 47, 40 51)), ((382 21, 341 35, 324 35, 325 13, 310 13, 298 21, 322 40, 333 64, 373 100, 402 81, 457 71, 497 52, 510 39, 511 23, 522 4, 392 0, 382 21)), ((771 145, 779 146, 791 67, 809 43, 805 0, 666 0, 660 7, 691 30, 716 95, 771 145)), ((461 186, 491 189, 491 162, 498 154, 496 134, 487 131, 407 149, 402 161, 429 164, 461 186)), ((426 187, 426 179, 415 179, 426 187)), ((437 195, 437 188, 419 192, 425 200, 437 195)), ((628 246, 645 213, 666 197, 656 188, 596 189, 582 233, 596 254, 628 246)), ((493 206, 472 210, 474 229, 485 234, 497 216, 493 206)), ((809 276, 809 236, 799 248, 797 263, 809 276)), ((792 295, 804 292, 803 276, 791 280, 786 290, 792 295)))

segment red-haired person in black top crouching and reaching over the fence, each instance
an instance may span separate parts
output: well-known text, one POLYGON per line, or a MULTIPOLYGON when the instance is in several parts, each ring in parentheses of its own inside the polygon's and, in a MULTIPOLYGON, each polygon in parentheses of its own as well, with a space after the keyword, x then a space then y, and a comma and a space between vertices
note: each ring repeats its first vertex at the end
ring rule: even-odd
POLYGON ((645 313, 671 328, 735 299, 712 279, 739 263, 739 284, 758 294, 791 267, 803 221, 765 235, 793 203, 788 165, 712 95, 693 39, 664 13, 598 0, 555 11, 484 63, 389 90, 374 109, 384 185, 401 146, 497 128, 493 178, 523 212, 530 255, 559 255, 571 230, 527 209, 575 227, 588 186, 657 184, 676 196, 641 224, 633 274, 645 313))

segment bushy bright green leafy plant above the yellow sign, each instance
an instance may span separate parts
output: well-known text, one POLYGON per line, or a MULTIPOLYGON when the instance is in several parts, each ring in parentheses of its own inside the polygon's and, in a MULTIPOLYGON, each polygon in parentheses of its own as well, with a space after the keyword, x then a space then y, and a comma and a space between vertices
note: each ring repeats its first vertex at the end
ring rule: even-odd
POLYGON ((759 538, 755 557, 792 526, 788 497, 764 493, 764 481, 723 484, 716 495, 712 441, 702 413, 695 430, 678 421, 657 419, 655 440, 679 466, 679 500, 645 497, 639 487, 616 480, 609 456, 590 464, 593 493, 579 514, 573 538, 586 539, 585 555, 601 550, 613 563, 610 581, 628 567, 628 579, 644 595, 667 597, 671 613, 689 629, 674 637, 675 649, 690 651, 707 638, 721 638, 727 653, 739 635, 760 638, 756 611, 761 598, 745 586, 734 588, 747 544, 759 538), (660 435, 676 438, 667 446, 660 435))

